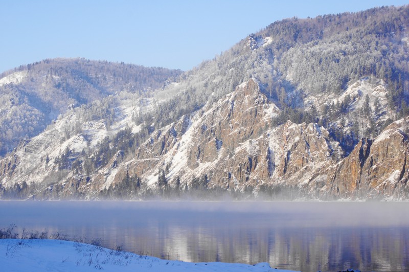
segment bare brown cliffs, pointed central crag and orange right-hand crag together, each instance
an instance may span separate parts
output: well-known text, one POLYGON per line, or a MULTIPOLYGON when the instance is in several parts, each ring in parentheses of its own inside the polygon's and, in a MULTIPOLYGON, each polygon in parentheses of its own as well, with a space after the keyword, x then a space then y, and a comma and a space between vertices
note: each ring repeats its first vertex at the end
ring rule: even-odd
POLYGON ((209 188, 254 194, 290 188, 306 198, 408 197, 406 122, 393 123, 376 139, 362 139, 345 157, 317 124, 287 121, 272 128, 279 111, 249 80, 152 133, 126 169, 153 187, 157 173, 167 168, 171 186, 177 176, 191 187, 194 177, 206 175, 209 188))

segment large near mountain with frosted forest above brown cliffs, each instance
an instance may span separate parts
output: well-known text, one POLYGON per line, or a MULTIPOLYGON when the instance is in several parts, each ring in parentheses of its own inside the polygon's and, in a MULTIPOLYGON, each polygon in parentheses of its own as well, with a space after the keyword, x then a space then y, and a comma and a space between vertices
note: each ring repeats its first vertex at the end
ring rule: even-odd
POLYGON ((0 161, 2 198, 407 199, 408 25, 409 6, 285 19, 70 107, 0 161))

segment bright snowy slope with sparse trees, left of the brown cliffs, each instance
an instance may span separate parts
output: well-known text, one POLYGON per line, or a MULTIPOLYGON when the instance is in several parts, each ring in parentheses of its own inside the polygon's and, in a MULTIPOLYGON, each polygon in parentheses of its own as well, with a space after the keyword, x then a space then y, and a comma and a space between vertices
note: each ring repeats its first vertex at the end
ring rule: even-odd
POLYGON ((139 103, 136 95, 121 93, 109 96, 105 100, 95 101, 90 107, 71 108, 47 129, 29 141, 22 141, 11 156, 0 161, 2 185, 13 186, 15 183, 49 186, 72 176, 70 171, 61 169, 59 160, 69 150, 67 161, 83 157, 84 152, 92 153, 98 149, 104 139, 112 137, 121 130, 131 133, 140 131, 132 118, 138 112, 150 107, 149 103, 139 103), (95 109, 110 108, 112 118, 88 116, 95 109))

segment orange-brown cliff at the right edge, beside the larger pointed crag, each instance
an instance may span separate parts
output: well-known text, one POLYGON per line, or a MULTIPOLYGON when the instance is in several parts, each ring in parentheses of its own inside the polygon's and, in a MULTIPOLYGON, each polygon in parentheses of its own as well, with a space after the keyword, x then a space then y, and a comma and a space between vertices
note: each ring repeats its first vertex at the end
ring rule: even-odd
POLYGON ((388 126, 374 140, 362 139, 328 179, 329 195, 407 199, 407 121, 388 126))

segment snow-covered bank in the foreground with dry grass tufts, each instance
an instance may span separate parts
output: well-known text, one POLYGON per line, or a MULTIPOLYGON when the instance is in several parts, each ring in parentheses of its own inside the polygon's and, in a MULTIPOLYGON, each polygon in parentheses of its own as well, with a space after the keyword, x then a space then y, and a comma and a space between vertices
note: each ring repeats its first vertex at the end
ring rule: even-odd
POLYGON ((2 271, 289 271, 268 263, 190 263, 161 260, 101 246, 62 240, 0 239, 2 271))

